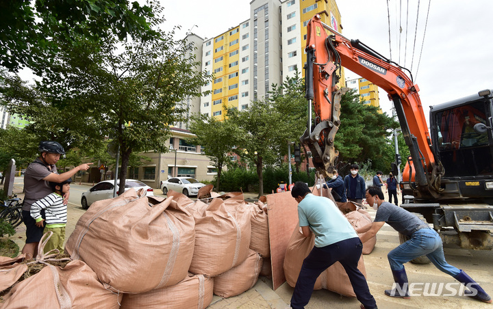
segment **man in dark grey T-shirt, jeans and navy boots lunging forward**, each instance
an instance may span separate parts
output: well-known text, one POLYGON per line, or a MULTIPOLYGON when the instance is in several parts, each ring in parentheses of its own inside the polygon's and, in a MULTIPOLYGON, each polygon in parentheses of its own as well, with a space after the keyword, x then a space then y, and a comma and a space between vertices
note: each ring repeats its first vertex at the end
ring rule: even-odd
POLYGON ((407 274, 403 264, 414 258, 426 255, 435 267, 444 273, 448 273, 448 275, 466 286, 465 295, 475 297, 486 303, 492 302, 490 295, 475 280, 472 280, 467 273, 446 262, 440 235, 424 221, 399 206, 385 202, 381 189, 375 186, 368 187, 366 190, 366 202, 373 206, 373 209, 377 209, 377 215, 375 215, 375 220, 372 224, 368 224, 368 226, 359 228, 356 231, 358 234, 364 232, 359 237, 362 243, 374 237, 385 223, 392 226, 397 232, 410 237, 408 241, 399 245, 387 255, 396 284, 392 290, 385 290, 385 295, 409 298, 407 274))

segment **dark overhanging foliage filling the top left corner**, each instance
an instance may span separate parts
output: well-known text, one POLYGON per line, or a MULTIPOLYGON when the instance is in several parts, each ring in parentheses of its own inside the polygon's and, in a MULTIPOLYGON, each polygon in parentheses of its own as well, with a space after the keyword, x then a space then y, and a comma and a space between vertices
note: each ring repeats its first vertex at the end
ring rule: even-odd
POLYGON ((14 72, 27 66, 40 75, 60 51, 58 41, 77 45, 77 36, 99 42, 111 35, 154 35, 153 16, 151 6, 137 1, 0 1, 0 66, 14 72))

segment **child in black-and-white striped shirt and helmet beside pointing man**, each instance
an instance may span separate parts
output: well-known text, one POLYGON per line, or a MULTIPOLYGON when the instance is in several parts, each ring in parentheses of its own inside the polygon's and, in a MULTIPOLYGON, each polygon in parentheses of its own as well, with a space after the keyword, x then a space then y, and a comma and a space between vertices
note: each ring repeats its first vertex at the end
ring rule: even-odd
POLYGON ((42 228, 43 222, 46 221, 43 232, 53 232, 53 235, 45 245, 45 253, 53 249, 60 250, 60 253, 64 252, 67 206, 64 205, 63 196, 70 191, 71 182, 72 178, 68 178, 62 183, 52 183, 50 181, 49 185, 53 189, 53 193, 31 205, 31 217, 36 220, 36 226, 42 228), (41 215, 43 209, 45 210, 46 219, 41 215))

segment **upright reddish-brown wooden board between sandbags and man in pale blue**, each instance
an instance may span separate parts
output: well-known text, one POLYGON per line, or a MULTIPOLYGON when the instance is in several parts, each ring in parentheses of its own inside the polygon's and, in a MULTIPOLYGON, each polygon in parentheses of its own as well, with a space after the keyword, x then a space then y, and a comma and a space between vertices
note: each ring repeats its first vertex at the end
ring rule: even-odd
POLYGON ((298 203, 291 191, 269 194, 268 229, 270 261, 272 264, 273 288, 276 290, 286 281, 284 276, 284 256, 292 231, 298 225, 298 203))

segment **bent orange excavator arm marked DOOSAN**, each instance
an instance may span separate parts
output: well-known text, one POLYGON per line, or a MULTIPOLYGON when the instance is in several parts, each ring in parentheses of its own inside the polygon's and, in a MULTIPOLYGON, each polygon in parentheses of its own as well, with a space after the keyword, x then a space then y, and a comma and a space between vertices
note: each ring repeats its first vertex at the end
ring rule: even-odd
POLYGON ((340 78, 340 75, 337 75, 338 70, 340 66, 344 66, 385 90, 394 101, 403 136, 411 152, 416 183, 421 191, 436 195, 439 187, 430 187, 430 183, 437 185, 435 179, 430 177, 436 174, 440 176, 442 170, 431 147, 425 113, 418 95, 418 85, 415 85, 398 65, 359 41, 351 41, 322 23, 318 14, 307 24, 305 51, 306 97, 309 101, 313 100, 316 120, 312 128, 309 127, 301 137, 301 142, 308 146, 312 153, 315 152, 313 161, 318 170, 325 167, 325 174, 329 174, 337 159, 337 150, 330 148, 333 148, 335 137, 332 131, 337 132, 340 124, 338 100, 340 101, 342 94, 336 83, 340 78), (320 151, 317 147, 320 147, 320 151), (325 157, 318 158, 320 153, 325 157), (332 155, 327 157, 327 154, 332 155), (317 165, 317 162, 323 164, 317 165))

